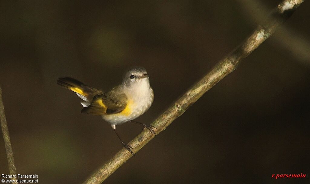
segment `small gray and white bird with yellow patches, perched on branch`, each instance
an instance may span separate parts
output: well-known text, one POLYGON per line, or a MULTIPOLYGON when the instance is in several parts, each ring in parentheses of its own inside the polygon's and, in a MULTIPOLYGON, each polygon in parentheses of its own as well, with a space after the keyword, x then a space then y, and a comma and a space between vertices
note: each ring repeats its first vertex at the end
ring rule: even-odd
POLYGON ((82 113, 100 115, 109 122, 123 147, 132 155, 133 148, 122 141, 116 132, 116 125, 126 122, 141 124, 156 136, 154 126, 133 121, 145 113, 154 100, 154 92, 144 68, 135 67, 127 71, 123 82, 108 92, 102 92, 70 77, 59 78, 57 84, 75 92, 82 99, 82 113))

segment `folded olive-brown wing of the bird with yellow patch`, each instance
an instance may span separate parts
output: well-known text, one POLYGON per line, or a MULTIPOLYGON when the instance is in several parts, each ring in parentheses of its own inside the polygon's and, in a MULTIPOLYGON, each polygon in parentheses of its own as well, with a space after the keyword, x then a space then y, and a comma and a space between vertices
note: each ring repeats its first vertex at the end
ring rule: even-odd
POLYGON ((120 92, 117 86, 111 91, 101 95, 95 95, 91 105, 82 109, 82 113, 92 115, 108 115, 120 113, 127 105, 127 96, 120 92))

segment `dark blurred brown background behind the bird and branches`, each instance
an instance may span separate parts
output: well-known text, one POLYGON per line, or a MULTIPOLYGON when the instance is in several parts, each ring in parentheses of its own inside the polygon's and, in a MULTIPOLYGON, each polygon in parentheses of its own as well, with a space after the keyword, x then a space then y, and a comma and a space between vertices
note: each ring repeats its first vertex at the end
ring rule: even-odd
MULTIPOLYGON (((253 31, 251 2, 2 1, 0 84, 17 173, 82 183, 122 148, 58 77, 108 90, 143 66, 155 99, 137 121, 151 123, 253 31)), ((259 2, 270 12, 281 1, 259 2)), ((104 183, 309 183, 309 8, 104 183), (271 178, 299 173, 307 178, 271 178)), ((126 142, 141 131, 117 129, 126 142)))

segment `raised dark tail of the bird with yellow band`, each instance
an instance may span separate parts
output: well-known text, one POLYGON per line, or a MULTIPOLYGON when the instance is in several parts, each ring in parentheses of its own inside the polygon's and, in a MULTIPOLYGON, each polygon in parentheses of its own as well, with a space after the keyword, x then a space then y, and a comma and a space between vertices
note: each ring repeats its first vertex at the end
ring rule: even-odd
POLYGON ((83 105, 83 107, 89 106, 95 95, 102 94, 102 91, 87 86, 84 83, 70 77, 59 78, 57 80, 57 84, 75 92, 78 97, 83 100, 81 102, 81 105, 83 105))

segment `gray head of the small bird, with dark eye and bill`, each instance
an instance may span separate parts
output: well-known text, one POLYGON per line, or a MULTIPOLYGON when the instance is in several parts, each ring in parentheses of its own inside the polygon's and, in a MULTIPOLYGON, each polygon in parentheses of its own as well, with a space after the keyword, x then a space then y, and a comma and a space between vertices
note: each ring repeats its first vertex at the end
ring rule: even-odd
POLYGON ((142 67, 135 67, 126 72, 123 78, 123 84, 127 88, 132 86, 140 86, 147 84, 149 86, 149 79, 146 70, 142 67))

